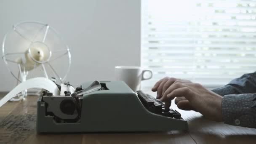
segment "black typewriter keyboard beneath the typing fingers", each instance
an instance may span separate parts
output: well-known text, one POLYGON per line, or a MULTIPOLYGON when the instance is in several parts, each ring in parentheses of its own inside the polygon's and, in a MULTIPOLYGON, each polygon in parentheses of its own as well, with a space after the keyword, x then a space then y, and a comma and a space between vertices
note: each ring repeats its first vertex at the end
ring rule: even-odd
POLYGON ((143 91, 137 91, 137 94, 144 107, 146 107, 150 112, 166 117, 181 119, 181 114, 179 112, 171 108, 166 109, 163 102, 155 97, 146 94, 143 91))

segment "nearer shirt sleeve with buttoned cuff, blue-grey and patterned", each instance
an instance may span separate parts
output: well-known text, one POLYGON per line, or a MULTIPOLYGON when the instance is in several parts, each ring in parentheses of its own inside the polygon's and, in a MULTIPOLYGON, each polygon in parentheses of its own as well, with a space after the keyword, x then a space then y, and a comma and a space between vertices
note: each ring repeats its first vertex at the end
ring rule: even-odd
POLYGON ((225 95, 221 111, 224 123, 256 128, 256 93, 225 95))

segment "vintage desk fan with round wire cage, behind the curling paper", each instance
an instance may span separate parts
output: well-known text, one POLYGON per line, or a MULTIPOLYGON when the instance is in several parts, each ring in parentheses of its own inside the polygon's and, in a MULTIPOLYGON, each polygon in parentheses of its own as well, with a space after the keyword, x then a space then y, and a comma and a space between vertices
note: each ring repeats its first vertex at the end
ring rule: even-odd
MULTIPOLYGON (((56 77, 63 83, 70 69, 69 47, 48 24, 24 21, 13 25, 3 39, 2 58, 17 84, 33 77, 56 77)), ((12 101, 27 96, 27 90, 12 101)))

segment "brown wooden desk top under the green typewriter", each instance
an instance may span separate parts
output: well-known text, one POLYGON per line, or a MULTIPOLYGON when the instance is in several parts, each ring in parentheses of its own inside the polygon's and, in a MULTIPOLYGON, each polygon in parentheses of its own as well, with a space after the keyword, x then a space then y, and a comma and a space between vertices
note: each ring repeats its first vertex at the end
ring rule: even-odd
MULTIPOLYGON (((0 107, 0 144, 256 144, 256 129, 211 122, 197 112, 182 110, 189 131, 39 135, 35 130, 37 98, 28 96, 0 107)), ((175 104, 172 108, 177 109, 175 104)))

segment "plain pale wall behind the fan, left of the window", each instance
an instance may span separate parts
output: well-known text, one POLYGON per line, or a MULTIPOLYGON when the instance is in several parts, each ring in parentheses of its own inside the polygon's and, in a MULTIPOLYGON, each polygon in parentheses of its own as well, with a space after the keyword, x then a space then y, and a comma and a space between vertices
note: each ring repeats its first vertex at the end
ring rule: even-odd
MULTIPOLYGON (((140 0, 1 0, 1 43, 13 24, 27 20, 51 25, 69 45, 67 80, 74 85, 113 80, 115 65, 140 65, 140 0)), ((15 83, 0 59, 0 91, 15 83)))

